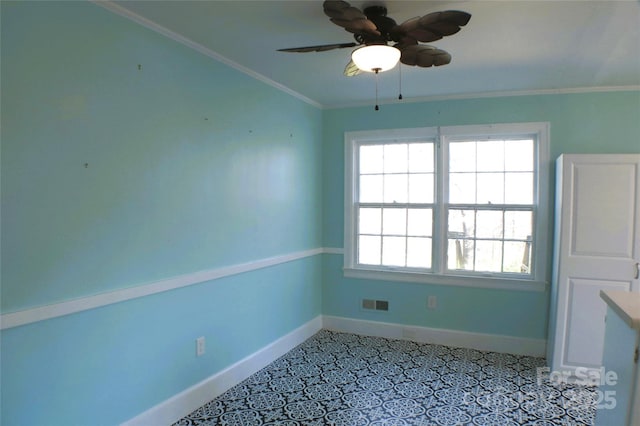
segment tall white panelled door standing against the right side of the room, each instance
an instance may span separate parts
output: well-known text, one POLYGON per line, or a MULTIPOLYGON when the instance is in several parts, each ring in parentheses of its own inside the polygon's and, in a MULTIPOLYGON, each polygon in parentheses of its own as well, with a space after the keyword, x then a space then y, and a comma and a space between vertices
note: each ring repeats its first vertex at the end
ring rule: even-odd
POLYGON ((600 290, 640 291, 640 154, 560 156, 554 237, 547 361, 553 372, 597 374, 600 290))

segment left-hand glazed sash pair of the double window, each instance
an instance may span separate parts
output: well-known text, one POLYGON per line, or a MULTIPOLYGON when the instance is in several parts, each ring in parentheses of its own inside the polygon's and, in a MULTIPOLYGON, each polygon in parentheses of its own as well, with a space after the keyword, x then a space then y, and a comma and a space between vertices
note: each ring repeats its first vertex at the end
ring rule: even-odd
POLYGON ((433 147, 433 141, 360 145, 359 264, 431 267, 433 147))

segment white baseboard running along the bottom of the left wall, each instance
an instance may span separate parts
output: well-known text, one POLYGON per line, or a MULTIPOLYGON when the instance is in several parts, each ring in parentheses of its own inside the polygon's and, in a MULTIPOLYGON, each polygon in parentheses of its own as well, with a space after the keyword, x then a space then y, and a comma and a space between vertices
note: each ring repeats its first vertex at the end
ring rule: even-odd
POLYGON ((269 365, 322 328, 317 316, 289 334, 123 423, 125 426, 172 424, 269 365))

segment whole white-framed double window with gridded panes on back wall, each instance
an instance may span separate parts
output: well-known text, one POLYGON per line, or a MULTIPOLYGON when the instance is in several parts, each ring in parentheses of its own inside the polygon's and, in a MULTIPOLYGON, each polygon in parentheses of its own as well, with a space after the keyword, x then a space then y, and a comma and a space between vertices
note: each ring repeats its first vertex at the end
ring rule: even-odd
POLYGON ((345 135, 345 274, 544 289, 548 125, 345 135))

